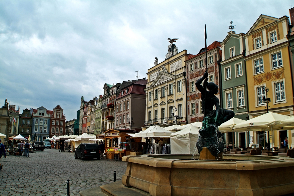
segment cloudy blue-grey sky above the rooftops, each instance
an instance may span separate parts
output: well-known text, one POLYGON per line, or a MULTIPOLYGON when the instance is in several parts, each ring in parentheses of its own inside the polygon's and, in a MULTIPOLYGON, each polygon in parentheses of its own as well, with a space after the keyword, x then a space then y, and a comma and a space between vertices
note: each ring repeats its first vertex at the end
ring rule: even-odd
POLYGON ((164 60, 167 38, 197 54, 223 41, 233 20, 247 33, 260 14, 289 16, 293 1, 22 1, 0 0, 0 107, 56 105, 76 118, 81 96, 146 77, 164 60), (283 2, 283 4, 281 4, 283 2))

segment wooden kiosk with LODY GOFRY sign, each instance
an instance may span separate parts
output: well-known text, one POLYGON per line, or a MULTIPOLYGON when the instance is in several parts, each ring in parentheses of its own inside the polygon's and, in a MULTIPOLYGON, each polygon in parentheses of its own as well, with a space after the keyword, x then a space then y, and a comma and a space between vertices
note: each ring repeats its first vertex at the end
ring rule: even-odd
MULTIPOLYGON (((106 158, 114 159, 114 153, 117 149, 123 149, 124 155, 131 155, 131 136, 128 134, 134 134, 138 131, 128 129, 108 129, 105 134, 105 152, 106 158)), ((135 138, 137 142, 141 142, 140 138, 135 138)), ((134 139, 134 140, 135 140, 134 139)))

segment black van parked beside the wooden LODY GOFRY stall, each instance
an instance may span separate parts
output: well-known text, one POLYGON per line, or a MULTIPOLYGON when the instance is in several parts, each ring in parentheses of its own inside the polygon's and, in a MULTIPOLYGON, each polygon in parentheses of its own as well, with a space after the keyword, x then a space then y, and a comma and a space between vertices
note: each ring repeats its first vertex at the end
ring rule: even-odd
POLYGON ((74 152, 74 158, 97 158, 100 160, 101 152, 99 144, 86 144, 82 143, 78 145, 76 151, 74 152))

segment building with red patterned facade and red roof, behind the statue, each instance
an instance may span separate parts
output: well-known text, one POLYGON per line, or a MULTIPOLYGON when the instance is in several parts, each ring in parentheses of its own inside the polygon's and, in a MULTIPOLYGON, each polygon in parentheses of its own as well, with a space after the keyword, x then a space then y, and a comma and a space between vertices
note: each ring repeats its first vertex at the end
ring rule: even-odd
MULTIPOLYGON (((221 59, 220 42, 215 41, 207 47, 208 58, 208 82, 214 82, 219 86, 218 61, 221 59)), ((201 93, 196 88, 196 81, 201 78, 206 71, 205 48, 196 55, 189 54, 185 61, 187 72, 187 119, 188 123, 202 122, 203 111, 201 93)), ((219 93, 216 94, 219 98, 219 93)))

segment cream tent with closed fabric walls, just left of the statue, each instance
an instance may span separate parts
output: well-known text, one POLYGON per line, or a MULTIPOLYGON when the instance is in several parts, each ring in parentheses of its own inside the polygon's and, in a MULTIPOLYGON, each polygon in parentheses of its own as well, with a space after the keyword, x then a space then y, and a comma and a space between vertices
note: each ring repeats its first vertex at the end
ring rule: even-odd
POLYGON ((193 154, 199 128, 189 124, 185 129, 171 134, 171 154, 193 154))

